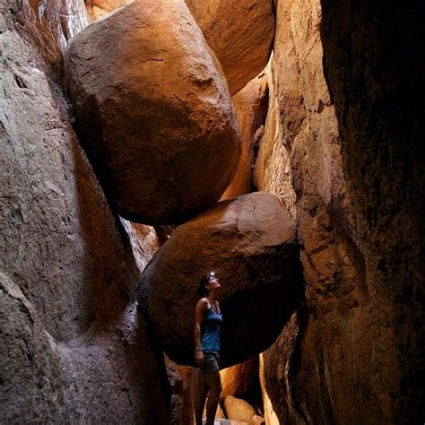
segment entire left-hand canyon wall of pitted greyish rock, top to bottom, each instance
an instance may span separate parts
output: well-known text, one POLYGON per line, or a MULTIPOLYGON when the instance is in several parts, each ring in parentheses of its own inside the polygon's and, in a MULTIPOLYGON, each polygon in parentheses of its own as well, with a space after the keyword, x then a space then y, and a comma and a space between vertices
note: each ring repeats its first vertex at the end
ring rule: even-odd
POLYGON ((163 360, 135 308, 140 270, 56 85, 84 9, 36 3, 8 2, 1 17, 0 421, 166 423, 163 360))

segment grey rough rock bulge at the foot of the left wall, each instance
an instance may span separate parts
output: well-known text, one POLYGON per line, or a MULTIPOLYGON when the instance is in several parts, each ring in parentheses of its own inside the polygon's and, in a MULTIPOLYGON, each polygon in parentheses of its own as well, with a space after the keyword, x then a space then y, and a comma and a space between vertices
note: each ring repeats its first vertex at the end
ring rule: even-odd
POLYGON ((167 422, 161 366, 135 305, 60 343, 19 287, 4 274, 0 281, 2 420, 167 422))

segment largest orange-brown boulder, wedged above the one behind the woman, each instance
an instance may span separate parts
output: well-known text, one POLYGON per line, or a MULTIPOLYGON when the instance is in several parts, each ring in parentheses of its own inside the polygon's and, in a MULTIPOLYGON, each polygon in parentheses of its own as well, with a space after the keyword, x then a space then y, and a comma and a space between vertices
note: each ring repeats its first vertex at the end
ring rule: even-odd
POLYGON ((166 224, 215 203, 239 160, 221 66, 183 0, 139 0, 66 51, 80 134, 108 200, 166 224))

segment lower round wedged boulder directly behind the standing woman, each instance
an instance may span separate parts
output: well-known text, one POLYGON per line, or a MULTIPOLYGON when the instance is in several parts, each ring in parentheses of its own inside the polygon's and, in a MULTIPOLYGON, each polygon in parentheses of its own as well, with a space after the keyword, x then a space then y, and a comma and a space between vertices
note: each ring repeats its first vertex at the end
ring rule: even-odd
POLYGON ((295 223, 275 196, 217 204, 174 230, 145 268, 140 303, 178 363, 194 363, 196 290, 211 270, 221 279, 225 368, 273 343, 302 291, 295 223))

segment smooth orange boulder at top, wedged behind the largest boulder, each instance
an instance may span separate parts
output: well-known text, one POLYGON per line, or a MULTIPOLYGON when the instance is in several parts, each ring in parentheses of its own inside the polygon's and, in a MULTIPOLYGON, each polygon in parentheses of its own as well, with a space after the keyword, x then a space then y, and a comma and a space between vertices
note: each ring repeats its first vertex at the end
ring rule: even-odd
POLYGON ((186 0, 236 94, 267 65, 273 47, 270 0, 186 0))

